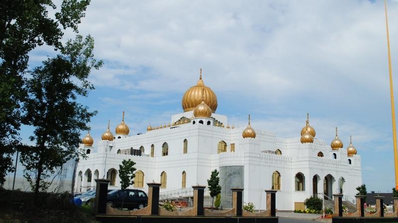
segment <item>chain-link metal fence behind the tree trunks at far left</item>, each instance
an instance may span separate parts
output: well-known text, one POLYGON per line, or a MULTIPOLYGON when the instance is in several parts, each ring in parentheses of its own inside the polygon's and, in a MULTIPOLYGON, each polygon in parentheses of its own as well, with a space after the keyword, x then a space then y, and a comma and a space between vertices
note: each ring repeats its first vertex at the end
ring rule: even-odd
MULTIPOLYGON (((13 156, 13 166, 16 162, 16 171, 9 172, 5 176, 5 183, 3 188, 6 190, 20 190, 20 191, 32 191, 29 182, 24 178, 24 166, 19 162, 19 157, 17 154, 13 156), (17 160, 18 158, 18 160, 17 160)), ((62 167, 57 168, 55 173, 50 177, 46 178, 47 182, 51 182, 50 187, 47 192, 50 193, 72 193, 74 191, 74 179, 76 175, 78 161, 71 159, 66 162, 62 167)))

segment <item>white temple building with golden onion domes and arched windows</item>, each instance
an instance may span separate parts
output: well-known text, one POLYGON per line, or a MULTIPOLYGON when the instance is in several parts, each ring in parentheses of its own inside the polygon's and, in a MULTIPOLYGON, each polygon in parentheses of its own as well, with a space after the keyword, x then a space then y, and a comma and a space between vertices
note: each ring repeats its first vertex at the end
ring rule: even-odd
POLYGON ((136 163, 131 188, 146 192, 148 182, 162 183, 160 193, 207 185, 217 169, 223 208, 231 206, 233 187, 244 188, 244 202, 256 209, 265 209, 264 190, 278 190, 277 210, 293 211, 313 194, 332 198, 343 193, 352 201, 362 184, 361 157, 352 141, 343 149, 337 128, 328 144, 315 138, 308 116, 297 138, 257 128, 250 115, 247 127, 230 126, 227 116, 215 113, 217 97, 204 85, 201 72, 198 83, 185 92, 182 107, 184 112, 172 115, 169 124, 149 125, 143 134, 129 135, 124 112, 114 135, 108 124, 93 146, 89 133, 81 145, 88 158, 78 164, 76 191, 92 188, 97 178, 109 179, 109 189, 120 188, 118 169, 124 159, 136 163))

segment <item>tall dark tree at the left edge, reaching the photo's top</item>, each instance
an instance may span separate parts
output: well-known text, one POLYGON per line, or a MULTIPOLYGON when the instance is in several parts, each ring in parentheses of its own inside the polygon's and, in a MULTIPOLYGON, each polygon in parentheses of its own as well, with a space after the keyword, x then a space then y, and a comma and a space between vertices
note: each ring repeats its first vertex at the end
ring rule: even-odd
POLYGON ((0 3, 0 187, 19 145, 21 105, 27 96, 28 53, 39 45, 62 47, 63 30, 77 25, 90 0, 2 0, 0 3), (50 9, 50 10, 49 10, 50 9))

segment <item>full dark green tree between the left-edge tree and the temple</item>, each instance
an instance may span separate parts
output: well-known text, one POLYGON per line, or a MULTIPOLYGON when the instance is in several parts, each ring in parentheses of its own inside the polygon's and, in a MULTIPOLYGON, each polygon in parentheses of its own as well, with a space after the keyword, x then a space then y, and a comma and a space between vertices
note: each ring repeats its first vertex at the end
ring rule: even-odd
POLYGON ((56 168, 70 159, 85 157, 79 149, 80 132, 89 130, 87 123, 97 112, 89 112, 76 100, 94 89, 87 78, 93 68, 102 65, 94 59, 93 49, 91 36, 78 35, 66 43, 62 54, 44 61, 27 80, 23 120, 34 127, 30 140, 35 145, 23 147, 21 162, 24 177, 36 194, 47 190, 51 182, 46 178, 56 168))

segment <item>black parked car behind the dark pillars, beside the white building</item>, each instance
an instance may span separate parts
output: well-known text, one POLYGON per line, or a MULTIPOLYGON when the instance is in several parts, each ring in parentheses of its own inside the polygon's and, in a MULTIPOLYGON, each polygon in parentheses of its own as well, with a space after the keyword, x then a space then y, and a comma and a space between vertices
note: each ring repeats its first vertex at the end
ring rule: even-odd
POLYGON ((148 205, 148 196, 141 190, 114 190, 108 193, 106 205, 112 208, 142 209, 148 205), (123 201, 124 197, 124 201, 123 201))

